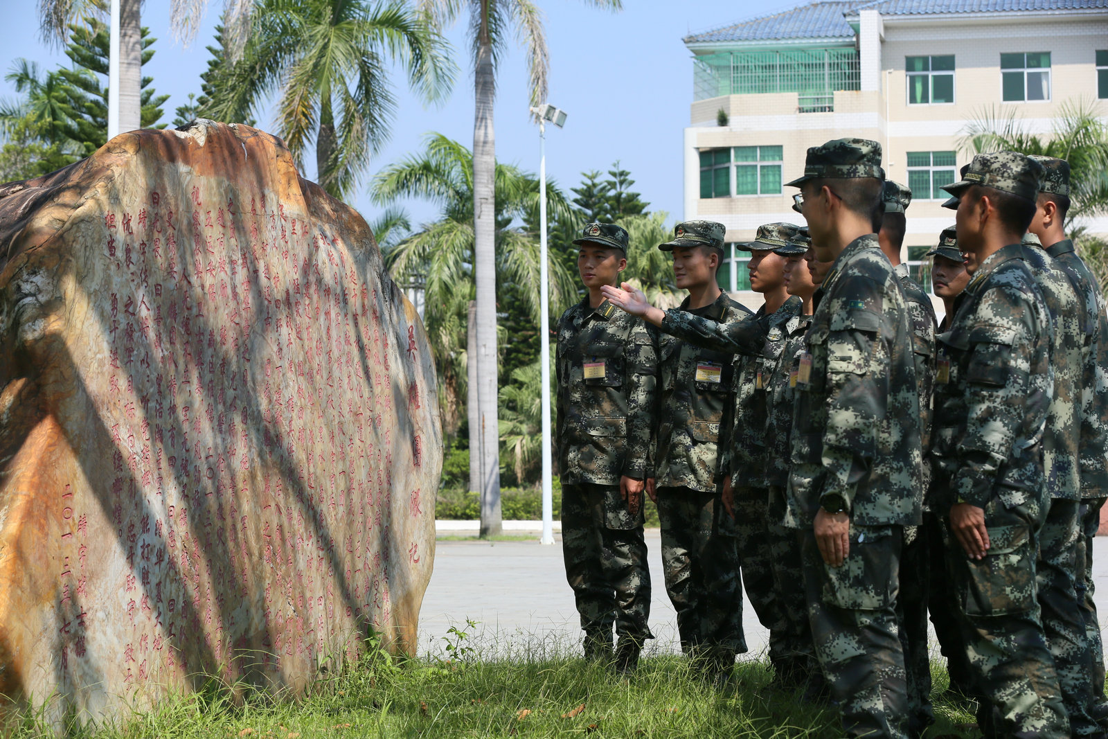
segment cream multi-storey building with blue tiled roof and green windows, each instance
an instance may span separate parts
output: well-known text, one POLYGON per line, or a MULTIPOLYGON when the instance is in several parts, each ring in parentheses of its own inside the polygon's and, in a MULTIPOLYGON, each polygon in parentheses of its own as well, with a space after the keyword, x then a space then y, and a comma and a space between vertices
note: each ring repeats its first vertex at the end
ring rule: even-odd
MULTIPOLYGON (((808 147, 872 138, 886 176, 912 188, 902 258, 925 283, 922 255, 954 222, 940 186, 972 157, 974 121, 1014 117, 1042 135, 1067 105, 1108 117, 1108 0, 827 0, 684 41, 685 218, 719 220, 732 242, 803 223, 781 183, 803 171, 808 147)), ((1108 234, 1108 218, 1085 225, 1108 234)), ((729 259, 721 285, 756 306, 748 256, 729 259)))

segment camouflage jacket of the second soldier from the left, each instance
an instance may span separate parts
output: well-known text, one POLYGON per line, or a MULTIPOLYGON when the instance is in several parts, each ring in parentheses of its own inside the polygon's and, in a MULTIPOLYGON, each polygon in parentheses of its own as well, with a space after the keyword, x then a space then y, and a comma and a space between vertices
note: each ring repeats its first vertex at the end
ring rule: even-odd
POLYGON ((757 321, 741 320, 750 317, 750 311, 727 292, 699 310, 689 311, 687 307, 688 298, 678 309, 667 311, 661 322, 667 336, 658 345, 661 402, 657 484, 715 492, 720 471, 720 424, 735 403, 733 352, 704 348, 678 337, 697 335, 698 329, 693 328, 701 324, 697 318, 709 319, 710 336, 716 338, 727 336, 728 327, 745 335, 757 321))

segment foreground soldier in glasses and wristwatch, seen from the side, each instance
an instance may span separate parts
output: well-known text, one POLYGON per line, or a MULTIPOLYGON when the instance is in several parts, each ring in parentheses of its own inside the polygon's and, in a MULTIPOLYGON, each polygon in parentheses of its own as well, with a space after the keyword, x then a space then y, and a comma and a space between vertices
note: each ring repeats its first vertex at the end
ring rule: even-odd
POLYGON ((815 653, 851 737, 907 736, 895 606, 904 527, 921 522, 911 318, 871 233, 880 163, 876 142, 831 141, 789 183, 834 266, 798 362, 787 522, 803 535, 815 653))

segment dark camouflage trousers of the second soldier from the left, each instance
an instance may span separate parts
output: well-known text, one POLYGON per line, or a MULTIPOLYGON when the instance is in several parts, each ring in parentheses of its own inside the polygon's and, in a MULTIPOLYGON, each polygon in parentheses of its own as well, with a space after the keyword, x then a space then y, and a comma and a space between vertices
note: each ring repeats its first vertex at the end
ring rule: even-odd
MULTIPOLYGON (((661 567, 681 650, 747 650, 735 522, 715 493, 658 487, 661 567)), ((733 660, 733 656, 732 656, 733 660)))

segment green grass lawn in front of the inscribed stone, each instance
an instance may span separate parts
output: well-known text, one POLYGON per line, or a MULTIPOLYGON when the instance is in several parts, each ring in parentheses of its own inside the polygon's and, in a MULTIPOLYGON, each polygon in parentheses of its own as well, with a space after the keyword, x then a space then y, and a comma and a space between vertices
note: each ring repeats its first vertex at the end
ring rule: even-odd
MULTIPOLYGON (((684 658, 644 658, 630 678, 572 656, 500 653, 482 659, 456 629, 447 637, 453 661, 393 660, 371 654, 299 698, 247 694, 191 695, 117 727, 86 727, 71 736, 307 739, 308 737, 835 737, 830 707, 804 705, 794 692, 769 687, 760 661, 739 663, 721 690, 689 674, 684 658)), ((933 666, 935 695, 945 674, 933 666)), ((955 728, 972 720, 938 699, 929 736, 970 737, 955 728)), ((27 718, 12 737, 52 736, 27 718)))

